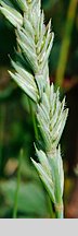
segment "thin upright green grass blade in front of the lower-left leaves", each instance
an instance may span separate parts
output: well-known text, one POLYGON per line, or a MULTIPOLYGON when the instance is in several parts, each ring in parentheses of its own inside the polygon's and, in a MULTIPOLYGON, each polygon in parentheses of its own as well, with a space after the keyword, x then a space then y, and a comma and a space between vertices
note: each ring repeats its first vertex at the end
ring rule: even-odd
POLYGON ((17 182, 16 182, 14 210, 13 210, 13 219, 16 219, 16 216, 17 216, 17 199, 18 199, 20 182, 21 182, 21 163, 22 163, 22 156, 23 156, 23 150, 21 150, 21 154, 20 154, 18 170, 17 170, 17 182))

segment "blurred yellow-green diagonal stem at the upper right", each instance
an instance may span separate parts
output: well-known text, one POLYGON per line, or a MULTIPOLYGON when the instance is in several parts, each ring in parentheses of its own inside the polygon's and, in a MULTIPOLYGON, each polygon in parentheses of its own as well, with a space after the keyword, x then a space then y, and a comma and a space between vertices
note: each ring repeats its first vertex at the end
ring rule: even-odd
POLYGON ((67 63, 67 58, 68 58, 68 51, 69 51, 69 46, 70 46, 72 32, 73 32, 73 27, 74 27, 75 15, 76 15, 77 3, 78 3, 78 0, 70 0, 70 3, 69 3, 69 9, 68 9, 68 13, 67 13, 67 21, 66 21, 66 25, 65 25, 65 34, 64 34, 64 39, 62 43, 58 67, 57 67, 57 71, 56 71, 56 81, 55 81, 56 86, 63 85, 63 80, 64 80, 64 74, 65 74, 65 69, 66 69, 66 63, 67 63))

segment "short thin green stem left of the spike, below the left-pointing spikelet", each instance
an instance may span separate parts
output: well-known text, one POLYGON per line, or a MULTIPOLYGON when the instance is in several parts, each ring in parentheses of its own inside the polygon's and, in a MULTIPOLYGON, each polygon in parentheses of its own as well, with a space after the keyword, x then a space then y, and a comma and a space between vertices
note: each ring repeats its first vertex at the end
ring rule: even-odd
POLYGON ((37 123, 36 123, 36 117, 35 117, 35 113, 34 113, 32 104, 31 104, 30 99, 29 99, 29 109, 30 109, 30 115, 31 115, 31 119, 32 119, 35 135, 36 135, 36 139, 38 140, 38 129, 37 129, 37 123))

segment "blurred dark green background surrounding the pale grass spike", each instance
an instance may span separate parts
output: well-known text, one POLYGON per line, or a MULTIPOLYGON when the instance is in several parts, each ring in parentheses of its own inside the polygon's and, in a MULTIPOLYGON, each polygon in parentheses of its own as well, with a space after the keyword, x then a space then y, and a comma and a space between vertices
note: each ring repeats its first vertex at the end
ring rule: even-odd
MULTIPOLYGON (((76 210, 74 205, 74 199, 78 198, 78 5, 77 0, 42 0, 42 8, 46 24, 51 17, 54 32, 49 60, 50 80, 55 86, 60 85, 61 98, 66 94, 66 105, 69 107, 61 140, 65 170, 65 217, 78 217, 78 200, 75 200, 76 210), (68 210, 72 192, 73 205, 68 210)), ((30 156, 36 156, 29 99, 8 73, 11 68, 9 56, 13 56, 15 47, 14 28, 0 14, 0 217, 13 217, 20 160, 17 217, 50 217, 50 200, 30 162, 30 156)))

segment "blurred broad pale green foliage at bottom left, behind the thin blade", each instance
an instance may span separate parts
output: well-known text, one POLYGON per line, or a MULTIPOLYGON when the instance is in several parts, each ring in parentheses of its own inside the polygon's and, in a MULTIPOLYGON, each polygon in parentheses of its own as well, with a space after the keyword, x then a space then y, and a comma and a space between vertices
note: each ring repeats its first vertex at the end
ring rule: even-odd
MULTIPOLYGON (((16 179, 8 180, 1 184, 0 193, 3 197, 0 214, 3 216, 2 208, 5 208, 5 213, 12 214, 14 206, 14 196, 16 188, 16 179), (5 199, 5 200, 4 200, 5 199)), ((18 216, 26 217, 46 217, 49 213, 48 204, 44 198, 44 191, 37 182, 20 185, 20 192, 17 199, 18 216)))

